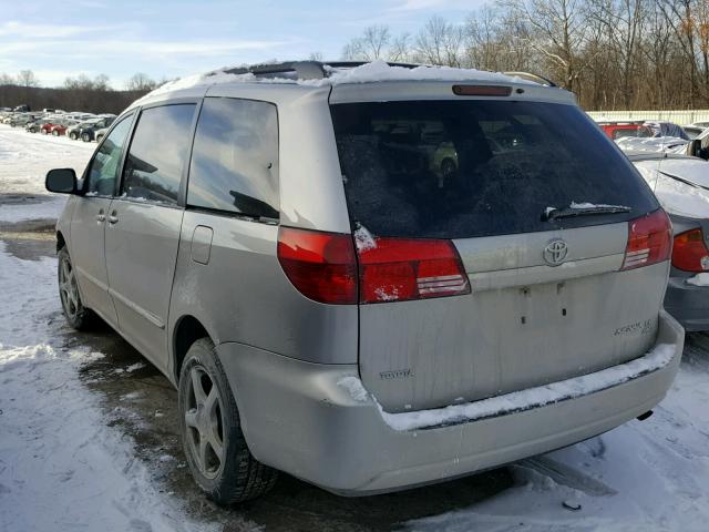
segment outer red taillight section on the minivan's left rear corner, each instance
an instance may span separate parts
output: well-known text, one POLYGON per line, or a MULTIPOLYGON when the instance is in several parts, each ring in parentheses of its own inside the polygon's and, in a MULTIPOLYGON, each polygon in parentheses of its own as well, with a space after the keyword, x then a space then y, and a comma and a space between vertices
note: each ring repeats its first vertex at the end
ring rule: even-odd
POLYGON ((357 303, 352 235, 280 227, 278 262, 304 296, 319 303, 357 303))

